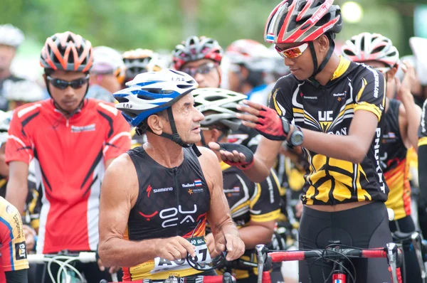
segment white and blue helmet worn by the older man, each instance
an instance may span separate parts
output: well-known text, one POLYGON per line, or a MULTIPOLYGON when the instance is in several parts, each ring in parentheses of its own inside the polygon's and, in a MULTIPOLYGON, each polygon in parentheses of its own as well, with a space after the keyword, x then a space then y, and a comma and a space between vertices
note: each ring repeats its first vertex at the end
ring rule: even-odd
POLYGON ((186 73, 164 69, 137 75, 127 88, 113 94, 127 122, 138 127, 144 119, 169 107, 199 85, 186 73))

